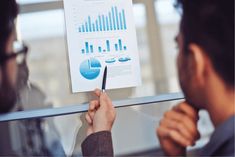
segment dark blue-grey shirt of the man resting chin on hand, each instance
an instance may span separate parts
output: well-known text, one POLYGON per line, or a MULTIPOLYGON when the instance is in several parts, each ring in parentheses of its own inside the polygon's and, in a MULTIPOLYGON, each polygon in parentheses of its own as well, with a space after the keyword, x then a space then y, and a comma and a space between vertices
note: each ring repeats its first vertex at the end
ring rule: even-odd
POLYGON ((235 156, 234 122, 235 116, 216 127, 209 143, 200 151, 200 156, 235 156))

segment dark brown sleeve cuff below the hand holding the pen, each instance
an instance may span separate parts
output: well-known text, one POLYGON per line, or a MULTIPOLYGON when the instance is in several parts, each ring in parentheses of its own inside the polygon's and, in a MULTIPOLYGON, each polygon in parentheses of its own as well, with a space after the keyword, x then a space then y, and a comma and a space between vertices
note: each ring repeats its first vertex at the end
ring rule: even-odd
POLYGON ((91 134, 82 143, 83 156, 114 156, 110 131, 91 134))

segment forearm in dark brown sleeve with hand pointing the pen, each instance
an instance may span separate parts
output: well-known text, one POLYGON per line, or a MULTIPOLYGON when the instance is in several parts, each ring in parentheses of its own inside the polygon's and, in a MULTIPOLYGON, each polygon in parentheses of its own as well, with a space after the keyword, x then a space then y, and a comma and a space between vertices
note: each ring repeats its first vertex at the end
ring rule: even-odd
POLYGON ((86 114, 88 129, 82 153, 84 156, 114 156, 111 130, 116 112, 106 93, 96 90, 95 94, 98 100, 90 102, 86 114))

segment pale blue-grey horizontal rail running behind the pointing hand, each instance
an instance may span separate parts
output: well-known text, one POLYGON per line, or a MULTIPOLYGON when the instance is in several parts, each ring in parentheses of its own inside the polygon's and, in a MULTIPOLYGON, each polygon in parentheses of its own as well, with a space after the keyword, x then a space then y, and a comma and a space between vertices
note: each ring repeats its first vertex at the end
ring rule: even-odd
MULTIPOLYGON (((175 101, 184 99, 183 93, 169 93, 158 96, 139 97, 125 100, 113 101, 115 108, 150 105, 154 103, 175 101)), ((55 116, 63 116, 70 114, 77 114, 87 112, 89 104, 69 105, 66 107, 35 109, 30 111, 18 111, 0 115, 0 122, 8 122, 15 120, 35 119, 35 118, 48 118, 55 116)))

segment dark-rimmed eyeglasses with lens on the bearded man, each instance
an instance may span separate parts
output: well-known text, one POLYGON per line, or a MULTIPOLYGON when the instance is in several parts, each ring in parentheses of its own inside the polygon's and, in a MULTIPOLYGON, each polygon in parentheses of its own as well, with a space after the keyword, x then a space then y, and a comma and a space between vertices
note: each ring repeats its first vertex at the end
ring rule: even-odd
POLYGON ((10 54, 0 55, 0 65, 3 65, 8 60, 16 58, 17 64, 22 64, 27 57, 28 47, 22 42, 14 42, 13 52, 10 54))

